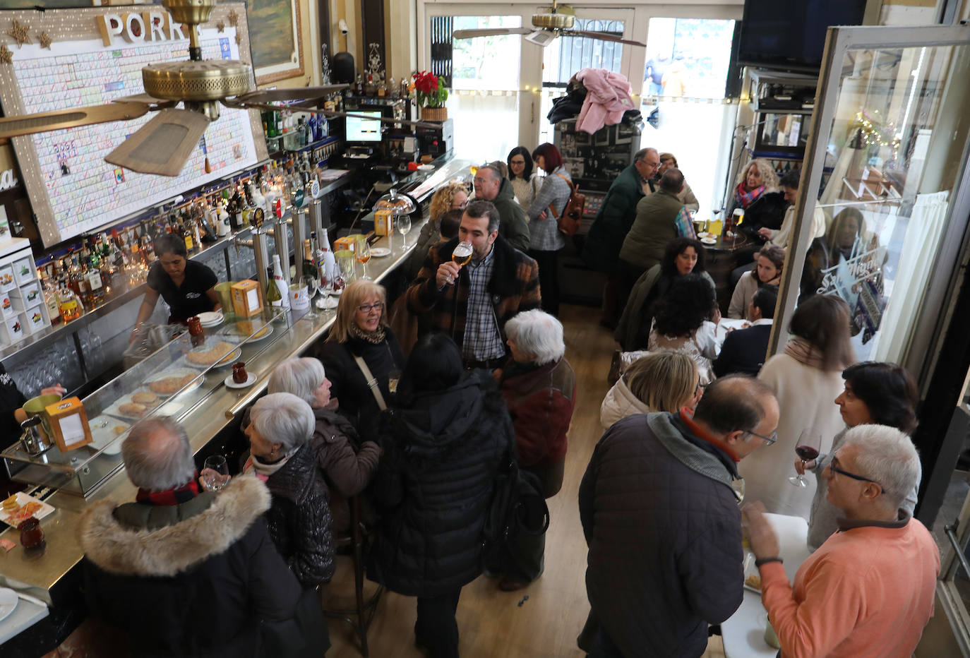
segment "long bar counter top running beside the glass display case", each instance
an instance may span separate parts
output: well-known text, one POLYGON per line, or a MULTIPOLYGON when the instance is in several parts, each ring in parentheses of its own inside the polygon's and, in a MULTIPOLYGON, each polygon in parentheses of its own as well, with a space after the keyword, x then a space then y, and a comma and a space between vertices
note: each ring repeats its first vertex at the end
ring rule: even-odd
MULTIPOLYGON (((442 182, 467 173, 468 165, 468 162, 455 160, 444 163, 421 184, 422 190, 415 196, 427 198, 430 194, 429 190, 433 191, 442 182)), ((422 221, 414 222, 407 234, 406 248, 402 247, 402 237, 398 233, 390 237, 381 237, 375 243, 373 247, 389 247, 391 253, 381 258, 372 257, 367 264, 368 274, 372 280, 383 280, 404 262, 414 248, 414 242, 426 222, 427 217, 422 221)), ((357 272, 360 273, 359 267, 357 272)), ((313 312, 317 315, 315 318, 307 318, 305 311, 278 313, 272 319, 274 330, 270 337, 242 345, 243 351, 240 358, 245 361, 246 371, 256 377, 254 384, 242 389, 229 388, 223 383, 223 379, 231 375, 231 369, 212 367, 205 372, 201 386, 178 395, 178 403, 182 408, 171 414, 185 427, 194 453, 198 454, 205 448, 214 437, 233 422, 236 414, 242 412, 266 390, 270 374, 278 363, 301 355, 310 345, 325 336, 334 322, 336 311, 321 311, 314 308, 313 312)), ((207 340, 210 332, 216 331, 215 328, 207 330, 207 340)), ((85 398, 85 405, 96 394, 85 398)), ((177 398, 173 398, 173 401, 175 400, 177 398)), ((162 405, 148 415, 166 413, 167 411, 164 411, 166 406, 162 405)), ((81 450, 83 449, 85 448, 82 447, 81 450)), ((103 499, 110 499, 116 503, 135 499, 136 488, 120 466, 120 455, 116 455, 115 459, 117 467, 86 497, 57 490, 45 499, 54 511, 41 519, 47 546, 40 552, 24 550, 19 545, 19 533, 16 529, 7 528, 0 534, 0 537, 9 538, 17 544, 9 551, 0 551, 0 586, 10 587, 49 605, 53 604, 51 590, 81 561, 82 552, 77 538, 81 512, 94 502, 103 499)), ((29 486, 26 493, 40 489, 42 489, 40 486, 29 486)))

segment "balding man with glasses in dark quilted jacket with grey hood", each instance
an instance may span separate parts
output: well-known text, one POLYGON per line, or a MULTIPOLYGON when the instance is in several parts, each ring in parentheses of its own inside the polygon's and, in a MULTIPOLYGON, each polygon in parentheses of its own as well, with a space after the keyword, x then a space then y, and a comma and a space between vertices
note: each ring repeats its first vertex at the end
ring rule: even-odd
POLYGON ((606 431, 579 487, 590 656, 704 652, 708 624, 741 605, 736 464, 774 443, 777 425, 770 389, 732 376, 708 386, 693 418, 637 414, 606 431))

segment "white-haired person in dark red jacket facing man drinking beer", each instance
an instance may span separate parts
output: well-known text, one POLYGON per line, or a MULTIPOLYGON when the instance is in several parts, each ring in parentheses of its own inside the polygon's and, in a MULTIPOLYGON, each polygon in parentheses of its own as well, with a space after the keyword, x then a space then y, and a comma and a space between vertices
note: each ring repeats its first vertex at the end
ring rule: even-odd
MULTIPOLYGON (((537 309, 515 315, 505 324, 511 359, 499 374, 501 395, 512 416, 519 466, 539 478, 542 493, 551 498, 563 486, 566 432, 576 407, 576 376, 566 361, 563 324, 537 309)), ((537 538, 535 561, 545 538, 537 538)), ((525 587, 529 579, 505 574, 499 588, 525 587)))

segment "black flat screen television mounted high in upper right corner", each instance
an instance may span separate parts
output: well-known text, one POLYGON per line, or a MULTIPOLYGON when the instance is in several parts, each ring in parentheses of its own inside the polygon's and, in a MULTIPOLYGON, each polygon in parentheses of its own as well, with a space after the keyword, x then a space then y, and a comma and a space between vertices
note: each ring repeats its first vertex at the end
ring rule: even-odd
POLYGON ((738 63, 818 71, 829 25, 860 25, 866 0, 745 0, 738 63))

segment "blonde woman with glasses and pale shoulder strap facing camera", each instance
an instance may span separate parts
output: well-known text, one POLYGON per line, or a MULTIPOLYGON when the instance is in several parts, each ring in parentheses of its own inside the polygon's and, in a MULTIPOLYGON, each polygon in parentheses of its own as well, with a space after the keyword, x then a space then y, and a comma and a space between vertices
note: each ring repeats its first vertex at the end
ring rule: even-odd
POLYGON ((333 384, 331 398, 339 401, 339 412, 364 440, 372 440, 377 416, 392 405, 404 370, 401 345, 384 313, 385 297, 384 286, 372 280, 356 280, 344 288, 320 353, 333 384))

